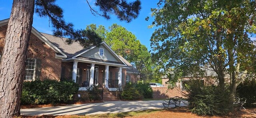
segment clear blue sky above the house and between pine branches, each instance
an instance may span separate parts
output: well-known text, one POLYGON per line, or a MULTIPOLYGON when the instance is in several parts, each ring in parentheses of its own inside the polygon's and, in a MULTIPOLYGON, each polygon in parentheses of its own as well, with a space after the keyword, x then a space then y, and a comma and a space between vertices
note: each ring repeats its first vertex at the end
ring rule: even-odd
MULTIPOLYGON (((92 7, 95 7, 93 6, 94 0, 88 1, 92 7)), ((157 2, 158 0, 141 0, 142 10, 140 15, 130 23, 120 22, 115 16, 106 20, 103 17, 92 15, 86 0, 57 0, 56 3, 64 10, 64 19, 73 23, 76 29, 84 29, 89 24, 103 25, 108 28, 117 23, 136 35, 137 39, 150 50, 150 37, 154 29, 148 29, 148 26, 152 23, 153 18, 150 18, 149 21, 146 21, 145 18, 150 16, 150 8, 157 7, 157 2)), ((10 17, 11 8, 12 0, 0 0, 0 20, 10 17)), ((52 34, 52 28, 51 25, 49 27, 48 20, 48 18, 40 18, 37 14, 34 14, 33 27, 40 32, 52 34)))

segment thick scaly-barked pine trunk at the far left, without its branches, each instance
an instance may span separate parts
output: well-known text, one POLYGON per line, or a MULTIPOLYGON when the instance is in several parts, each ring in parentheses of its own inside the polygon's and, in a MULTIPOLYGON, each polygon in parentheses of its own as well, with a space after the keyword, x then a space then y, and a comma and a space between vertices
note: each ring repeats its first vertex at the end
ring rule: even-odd
POLYGON ((32 29, 34 0, 14 0, 0 63, 0 116, 20 115, 26 50, 32 29))

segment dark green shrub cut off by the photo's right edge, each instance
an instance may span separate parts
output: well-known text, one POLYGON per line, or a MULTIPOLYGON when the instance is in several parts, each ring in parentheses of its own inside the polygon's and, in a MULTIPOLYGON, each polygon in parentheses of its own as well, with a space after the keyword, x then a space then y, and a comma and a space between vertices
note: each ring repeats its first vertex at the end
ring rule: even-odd
POLYGON ((246 79, 236 88, 239 98, 246 98, 246 106, 256 106, 256 79, 246 79))

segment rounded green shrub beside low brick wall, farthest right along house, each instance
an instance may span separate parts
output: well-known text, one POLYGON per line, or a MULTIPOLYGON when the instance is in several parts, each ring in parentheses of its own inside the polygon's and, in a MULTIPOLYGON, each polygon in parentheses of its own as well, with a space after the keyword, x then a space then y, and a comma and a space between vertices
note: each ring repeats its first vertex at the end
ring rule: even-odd
POLYGON ((144 98, 153 98, 153 89, 150 87, 149 83, 138 83, 138 85, 136 85, 136 89, 144 98))

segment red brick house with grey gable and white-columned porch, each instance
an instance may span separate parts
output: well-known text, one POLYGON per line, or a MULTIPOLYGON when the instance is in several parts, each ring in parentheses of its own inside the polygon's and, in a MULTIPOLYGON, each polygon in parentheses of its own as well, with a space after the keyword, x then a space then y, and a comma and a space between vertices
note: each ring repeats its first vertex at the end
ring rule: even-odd
MULTIPOLYGON (((7 24, 8 19, 0 21, 0 52, 4 48, 7 24)), ((24 81, 72 79, 78 83, 79 90, 87 90, 91 85, 109 89, 138 80, 139 71, 106 42, 84 48, 77 42, 68 45, 65 40, 32 28, 24 81)))

